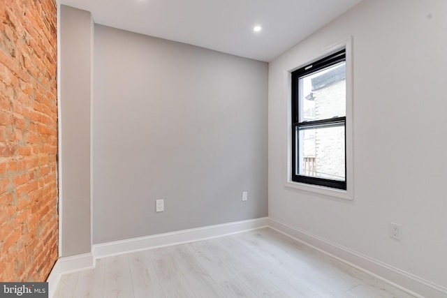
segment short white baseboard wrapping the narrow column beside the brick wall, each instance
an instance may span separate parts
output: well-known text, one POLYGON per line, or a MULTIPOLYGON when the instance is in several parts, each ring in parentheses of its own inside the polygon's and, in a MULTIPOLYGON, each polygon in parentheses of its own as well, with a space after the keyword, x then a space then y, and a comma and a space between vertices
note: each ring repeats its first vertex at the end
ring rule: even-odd
POLYGON ((61 279, 61 275, 91 269, 93 267, 94 258, 91 253, 83 253, 82 255, 59 258, 54 264, 53 269, 47 278, 48 297, 52 298, 54 296, 54 292, 56 292, 57 284, 61 279))

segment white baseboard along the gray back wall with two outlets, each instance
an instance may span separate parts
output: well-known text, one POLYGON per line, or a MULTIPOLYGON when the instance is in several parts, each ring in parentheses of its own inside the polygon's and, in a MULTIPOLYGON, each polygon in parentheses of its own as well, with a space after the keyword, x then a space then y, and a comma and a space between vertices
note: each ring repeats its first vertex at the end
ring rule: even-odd
POLYGON ((184 244, 188 242, 222 237, 228 234, 235 234, 247 230, 265 228, 268 225, 268 218, 249 219, 247 221, 236 221, 233 223, 223 223, 221 225, 208 225, 202 228, 180 230, 151 236, 138 237, 126 240, 112 241, 102 244, 94 244, 94 259, 108 257, 110 255, 120 255, 142 251, 148 248, 157 248, 184 244))

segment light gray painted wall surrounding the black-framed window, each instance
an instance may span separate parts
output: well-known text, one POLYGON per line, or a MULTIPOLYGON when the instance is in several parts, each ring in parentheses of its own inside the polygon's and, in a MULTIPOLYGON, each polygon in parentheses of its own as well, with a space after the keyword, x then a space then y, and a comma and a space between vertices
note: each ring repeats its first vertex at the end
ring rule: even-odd
POLYGON ((447 288, 446 31, 447 1, 365 0, 270 62, 269 218, 447 288), (284 187, 286 73, 349 36, 351 202, 284 187))

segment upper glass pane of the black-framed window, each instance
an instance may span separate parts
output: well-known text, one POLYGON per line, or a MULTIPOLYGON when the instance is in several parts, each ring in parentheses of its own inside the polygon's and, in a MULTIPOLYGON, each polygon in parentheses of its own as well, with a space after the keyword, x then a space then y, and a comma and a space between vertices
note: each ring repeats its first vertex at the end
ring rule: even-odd
POLYGON ((346 116, 346 63, 299 79, 300 122, 346 116))

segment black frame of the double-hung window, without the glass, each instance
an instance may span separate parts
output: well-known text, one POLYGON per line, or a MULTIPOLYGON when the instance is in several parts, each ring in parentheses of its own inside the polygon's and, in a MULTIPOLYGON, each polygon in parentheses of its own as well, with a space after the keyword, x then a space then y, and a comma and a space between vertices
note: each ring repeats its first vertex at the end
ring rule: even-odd
POLYGON ((337 188, 346 191, 346 117, 335 117, 330 119, 320 119, 315 121, 302 121, 300 122, 300 90, 299 90, 299 80, 300 77, 305 75, 310 75, 315 73, 318 70, 322 70, 323 68, 328 68, 329 66, 333 66, 335 64, 339 64, 340 62, 346 62, 346 48, 335 52, 334 54, 330 54, 322 59, 309 63, 297 70, 294 70, 292 75, 292 181, 300 182, 304 184, 312 184, 316 186, 325 186, 328 188, 337 188), (335 179, 325 179, 320 177, 311 177, 296 174, 296 154, 299 145, 298 137, 296 136, 296 131, 298 128, 321 128, 328 126, 344 126, 344 171, 345 171, 345 179, 344 181, 335 180, 335 179))

